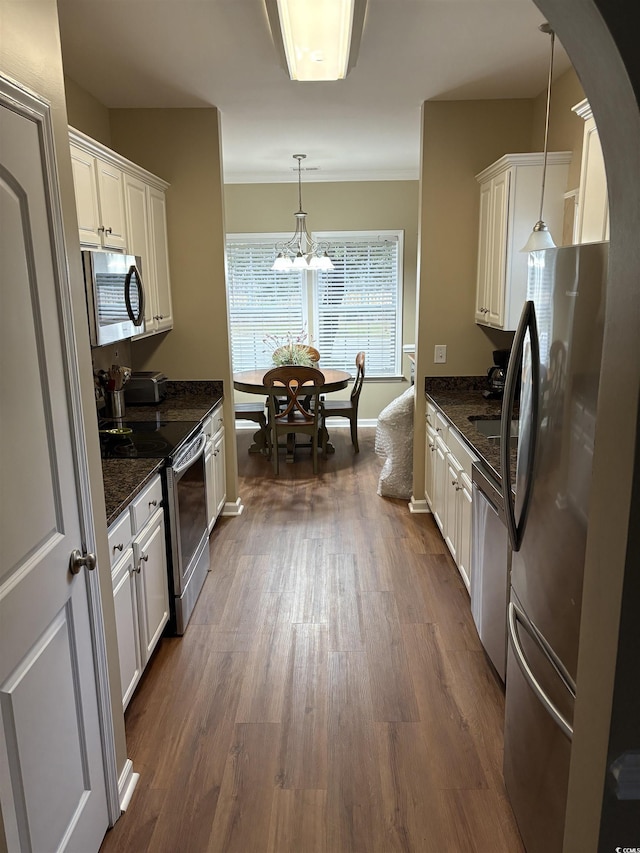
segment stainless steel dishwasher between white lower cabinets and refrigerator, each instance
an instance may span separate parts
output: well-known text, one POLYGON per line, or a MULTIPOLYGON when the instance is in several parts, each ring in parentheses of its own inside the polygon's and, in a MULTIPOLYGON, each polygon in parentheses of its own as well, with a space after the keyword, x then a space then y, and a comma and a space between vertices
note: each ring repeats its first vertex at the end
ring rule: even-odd
POLYGON ((511 547, 500 482, 481 463, 471 472, 473 488, 471 546, 471 613, 480 641, 505 680, 507 604, 511 547))

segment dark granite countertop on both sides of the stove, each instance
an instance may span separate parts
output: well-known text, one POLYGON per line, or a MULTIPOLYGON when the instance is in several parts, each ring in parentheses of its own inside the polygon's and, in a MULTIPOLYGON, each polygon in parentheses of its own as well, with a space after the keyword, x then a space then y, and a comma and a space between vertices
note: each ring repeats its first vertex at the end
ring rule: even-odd
MULTIPOLYGON (((158 405, 127 406, 125 419, 201 421, 222 400, 222 382, 168 382, 167 396, 158 405)), ((107 526, 164 467, 164 459, 103 459, 102 478, 107 526)))

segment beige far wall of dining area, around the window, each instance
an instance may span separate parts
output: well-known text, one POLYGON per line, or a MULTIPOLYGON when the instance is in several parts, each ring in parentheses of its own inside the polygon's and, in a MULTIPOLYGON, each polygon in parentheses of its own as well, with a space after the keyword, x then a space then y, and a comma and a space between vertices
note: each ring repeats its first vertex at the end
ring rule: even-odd
MULTIPOLYGON (((413 344, 415 329, 416 255, 418 234, 418 182, 370 181, 318 183, 303 177, 304 209, 310 231, 404 231, 403 343, 413 344)), ((298 209, 297 183, 228 184, 225 215, 228 233, 292 234, 298 209)), ((355 358, 355 353, 354 353, 355 358)), ((322 361, 320 362, 322 365, 322 361)), ((354 368, 355 370, 355 368, 354 368)), ((403 371, 409 362, 403 356, 403 371)), ((408 386, 403 382, 365 382, 359 416, 376 418, 392 399, 408 386)), ((349 389, 336 398, 348 397, 349 389)), ((241 395, 238 395, 238 399, 241 395)), ((248 399, 248 397, 246 397, 248 399)))

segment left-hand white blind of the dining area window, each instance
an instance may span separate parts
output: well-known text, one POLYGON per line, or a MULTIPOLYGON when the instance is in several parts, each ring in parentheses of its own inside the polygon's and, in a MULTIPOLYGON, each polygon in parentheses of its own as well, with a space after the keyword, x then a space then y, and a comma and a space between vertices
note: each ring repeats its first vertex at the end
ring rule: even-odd
POLYGON ((227 236, 227 301, 234 371, 268 367, 266 335, 285 336, 305 324, 304 273, 271 270, 280 235, 227 236))

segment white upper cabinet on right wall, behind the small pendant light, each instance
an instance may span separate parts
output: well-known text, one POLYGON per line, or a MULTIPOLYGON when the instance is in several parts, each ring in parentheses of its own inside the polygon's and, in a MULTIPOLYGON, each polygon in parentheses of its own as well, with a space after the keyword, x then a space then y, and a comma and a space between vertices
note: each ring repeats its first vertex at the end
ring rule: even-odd
MULTIPOLYGON (((562 235, 570 151, 547 155, 543 217, 562 235)), ((528 254, 521 251, 540 213, 542 154, 505 154, 476 175, 480 228, 476 323, 515 331, 527 297, 528 254)))

